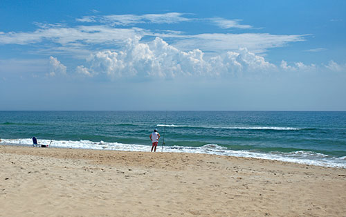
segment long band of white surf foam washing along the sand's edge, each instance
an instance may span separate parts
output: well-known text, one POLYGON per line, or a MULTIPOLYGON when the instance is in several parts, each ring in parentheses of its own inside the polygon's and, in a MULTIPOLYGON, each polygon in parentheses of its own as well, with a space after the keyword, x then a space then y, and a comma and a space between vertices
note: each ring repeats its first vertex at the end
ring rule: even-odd
MULTIPOLYGON (((39 144, 50 144, 51 147, 57 148, 73 148, 73 149, 104 149, 113 151, 145 151, 149 152, 149 145, 143 144, 123 144, 118 142, 92 142, 89 140, 80 141, 65 141, 65 140, 39 140, 39 144)), ((1 144, 14 144, 14 145, 33 145, 32 139, 1 139, 1 144)), ((322 153, 315 153, 312 151, 293 151, 290 153, 282 153, 273 151, 271 153, 260 153, 255 151, 246 150, 230 150, 226 147, 221 147, 217 144, 206 144, 203 147, 184 147, 184 146, 165 146, 165 152, 178 152, 178 153, 206 153, 215 155, 228 155, 244 158, 260 158, 266 160, 279 160, 283 162, 295 162, 299 164, 311 164, 322 167, 343 167, 346 168, 346 156, 340 158, 331 158, 322 153)), ((161 151, 159 145, 158 151, 161 151)))

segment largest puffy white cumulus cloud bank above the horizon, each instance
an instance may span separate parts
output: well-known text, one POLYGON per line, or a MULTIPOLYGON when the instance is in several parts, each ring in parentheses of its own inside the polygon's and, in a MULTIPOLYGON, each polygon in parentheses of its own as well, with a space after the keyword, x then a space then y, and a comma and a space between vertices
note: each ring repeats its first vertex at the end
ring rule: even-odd
POLYGON ((104 50, 87 59, 89 67, 78 66, 80 74, 89 77, 215 77, 236 73, 262 73, 276 66, 246 48, 212 58, 199 49, 182 51, 156 37, 149 43, 129 39, 121 51, 104 50))

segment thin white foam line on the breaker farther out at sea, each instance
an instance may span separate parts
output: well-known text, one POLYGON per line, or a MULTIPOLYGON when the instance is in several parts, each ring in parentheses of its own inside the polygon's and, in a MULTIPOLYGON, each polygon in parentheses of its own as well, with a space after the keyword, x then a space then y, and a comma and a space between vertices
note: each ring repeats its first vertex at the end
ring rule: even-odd
POLYGON ((190 128, 206 128, 206 129, 245 129, 245 130, 273 130, 273 131, 299 131, 300 128, 286 126, 190 126, 175 124, 157 124, 156 126, 166 127, 190 127, 190 128))

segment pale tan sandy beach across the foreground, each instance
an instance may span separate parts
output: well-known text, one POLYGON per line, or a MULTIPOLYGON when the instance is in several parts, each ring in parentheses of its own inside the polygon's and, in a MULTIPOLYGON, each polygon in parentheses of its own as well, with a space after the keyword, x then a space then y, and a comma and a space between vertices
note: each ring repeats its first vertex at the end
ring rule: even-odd
POLYGON ((0 163, 0 216, 346 216, 340 168, 3 145, 0 163))

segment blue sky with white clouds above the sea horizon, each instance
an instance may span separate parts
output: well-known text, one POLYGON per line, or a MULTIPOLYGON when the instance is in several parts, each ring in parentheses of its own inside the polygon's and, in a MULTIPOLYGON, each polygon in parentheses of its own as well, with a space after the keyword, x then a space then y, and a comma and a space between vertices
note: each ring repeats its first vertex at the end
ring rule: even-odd
POLYGON ((346 111, 346 1, 0 1, 0 110, 346 111))

